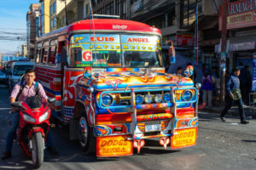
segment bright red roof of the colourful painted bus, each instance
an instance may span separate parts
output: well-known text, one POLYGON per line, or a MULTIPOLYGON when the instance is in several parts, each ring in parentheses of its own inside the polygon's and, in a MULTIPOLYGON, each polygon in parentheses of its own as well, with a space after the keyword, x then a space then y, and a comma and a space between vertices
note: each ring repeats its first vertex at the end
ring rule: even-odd
POLYGON ((94 19, 79 20, 58 30, 44 34, 39 39, 55 37, 72 31, 135 31, 161 34, 158 28, 132 20, 94 19))

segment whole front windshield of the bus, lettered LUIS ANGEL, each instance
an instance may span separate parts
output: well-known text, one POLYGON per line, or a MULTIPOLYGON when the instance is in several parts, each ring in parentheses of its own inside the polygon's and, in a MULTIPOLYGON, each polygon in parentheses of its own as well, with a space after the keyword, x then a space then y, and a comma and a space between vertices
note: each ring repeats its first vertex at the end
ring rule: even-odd
POLYGON ((161 59, 159 36, 75 34, 69 42, 70 67, 159 67, 161 59))

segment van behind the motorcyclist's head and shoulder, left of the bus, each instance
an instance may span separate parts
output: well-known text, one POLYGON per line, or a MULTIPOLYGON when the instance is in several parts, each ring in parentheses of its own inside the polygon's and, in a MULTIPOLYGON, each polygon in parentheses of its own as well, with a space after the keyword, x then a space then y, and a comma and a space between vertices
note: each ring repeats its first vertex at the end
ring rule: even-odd
POLYGON ((32 61, 15 61, 10 65, 8 75, 9 91, 14 88, 15 84, 20 81, 20 77, 25 74, 26 70, 34 68, 32 61))

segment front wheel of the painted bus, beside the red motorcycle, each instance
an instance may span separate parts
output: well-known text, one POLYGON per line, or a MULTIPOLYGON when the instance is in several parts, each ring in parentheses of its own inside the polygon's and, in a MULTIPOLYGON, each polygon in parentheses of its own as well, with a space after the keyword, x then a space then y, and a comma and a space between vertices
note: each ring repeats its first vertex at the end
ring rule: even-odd
POLYGON ((78 123, 79 144, 87 155, 96 154, 96 137, 93 135, 93 128, 89 126, 85 116, 79 117, 78 123))

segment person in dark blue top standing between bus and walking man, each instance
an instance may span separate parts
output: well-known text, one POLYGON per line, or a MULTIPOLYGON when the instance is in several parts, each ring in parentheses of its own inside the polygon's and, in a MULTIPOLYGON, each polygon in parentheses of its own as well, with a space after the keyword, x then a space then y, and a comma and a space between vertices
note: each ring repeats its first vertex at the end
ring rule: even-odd
POLYGON ((206 105, 212 107, 212 91, 214 88, 215 79, 208 72, 202 77, 202 91, 203 91, 203 107, 206 105))

